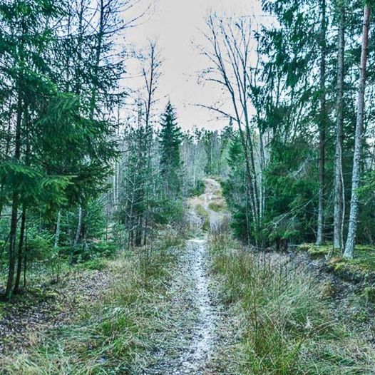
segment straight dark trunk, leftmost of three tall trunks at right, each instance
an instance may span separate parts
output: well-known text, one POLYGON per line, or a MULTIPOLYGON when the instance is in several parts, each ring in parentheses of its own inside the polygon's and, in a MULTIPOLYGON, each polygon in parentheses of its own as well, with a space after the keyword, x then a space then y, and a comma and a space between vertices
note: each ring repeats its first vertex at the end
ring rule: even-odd
POLYGON ((322 0, 322 26, 321 26, 321 60, 320 60, 320 119, 319 119, 319 207, 317 245, 324 241, 324 185, 326 164, 326 0, 322 0))

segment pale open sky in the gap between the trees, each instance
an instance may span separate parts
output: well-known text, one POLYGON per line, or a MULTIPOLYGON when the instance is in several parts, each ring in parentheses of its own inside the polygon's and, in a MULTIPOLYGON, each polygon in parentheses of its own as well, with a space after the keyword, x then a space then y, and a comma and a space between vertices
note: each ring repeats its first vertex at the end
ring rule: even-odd
MULTIPOLYGON (((142 6, 145 6, 147 0, 143 1, 142 6)), ((158 91, 158 96, 163 98, 160 104, 165 106, 170 98, 184 130, 194 126, 220 129, 228 123, 217 120, 214 113, 191 106, 191 103, 212 104, 220 97, 219 88, 197 83, 198 73, 207 68, 208 63, 197 53, 194 41, 202 40, 200 30, 205 30, 207 12, 258 17, 260 9, 260 0, 155 0, 148 19, 126 32, 128 42, 135 46, 145 46, 150 39, 158 41, 163 56, 158 91)))

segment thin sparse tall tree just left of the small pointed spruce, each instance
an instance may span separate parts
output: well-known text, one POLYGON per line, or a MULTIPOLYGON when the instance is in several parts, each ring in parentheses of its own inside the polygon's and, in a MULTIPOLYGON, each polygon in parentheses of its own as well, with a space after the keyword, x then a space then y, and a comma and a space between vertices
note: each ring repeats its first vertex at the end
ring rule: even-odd
POLYGON ((123 160, 123 210, 129 232, 129 245, 148 244, 150 232, 150 200, 154 194, 153 175, 153 108, 157 102, 155 93, 160 78, 161 58, 157 44, 150 41, 148 51, 140 58, 142 86, 136 99, 138 112, 135 126, 126 131, 125 155, 123 160), (136 154, 136 158, 133 158, 136 154), (141 210, 140 210, 140 207, 141 210))

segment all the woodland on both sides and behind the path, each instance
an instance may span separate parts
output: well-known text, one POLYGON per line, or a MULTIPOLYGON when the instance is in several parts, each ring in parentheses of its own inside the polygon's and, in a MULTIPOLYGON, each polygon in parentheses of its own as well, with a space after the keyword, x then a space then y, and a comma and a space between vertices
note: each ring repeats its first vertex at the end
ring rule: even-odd
POLYGON ((149 9, 134 16, 135 5, 0 2, 4 301, 120 252, 146 269, 160 231, 184 230, 207 177, 248 252, 311 243, 351 260, 373 246, 373 1, 263 0, 261 20, 208 14, 199 81, 222 98, 195 106, 227 125, 186 131, 159 93, 158 43, 127 40, 149 9))

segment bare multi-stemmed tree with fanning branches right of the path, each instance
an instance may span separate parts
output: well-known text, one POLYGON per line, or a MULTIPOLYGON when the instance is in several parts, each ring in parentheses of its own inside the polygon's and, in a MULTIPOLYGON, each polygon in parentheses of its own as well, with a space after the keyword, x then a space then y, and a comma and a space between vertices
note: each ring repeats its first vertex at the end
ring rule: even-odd
MULTIPOLYGON (((260 230, 262 197, 260 186, 260 165, 256 160, 255 129, 252 128, 251 116, 251 85, 252 80, 251 55, 253 46, 253 32, 250 18, 222 19, 211 14, 207 19, 207 34, 205 39, 209 48, 200 46, 203 56, 211 63, 210 69, 205 73, 205 80, 213 82, 225 89, 230 99, 231 111, 226 111, 222 106, 202 105, 237 123, 240 130, 242 148, 245 155, 245 170, 247 177, 247 216, 260 230)), ((250 223, 248 223, 250 230, 250 223)), ((257 236, 256 236, 257 237, 257 236)))

